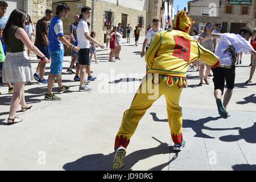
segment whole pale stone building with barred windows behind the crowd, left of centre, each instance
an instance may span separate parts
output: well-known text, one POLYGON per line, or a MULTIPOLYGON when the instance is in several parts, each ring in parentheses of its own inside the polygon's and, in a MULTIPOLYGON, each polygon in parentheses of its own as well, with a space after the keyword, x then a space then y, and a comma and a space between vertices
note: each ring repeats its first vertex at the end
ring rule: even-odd
MULTIPOLYGON (((52 10, 55 14, 56 6, 60 2, 52 1, 52 10)), ((126 31, 127 23, 135 29, 135 26, 141 30, 141 36, 145 35, 146 30, 146 0, 74 0, 65 2, 71 6, 68 18, 63 20, 64 33, 69 34, 69 26, 74 21, 74 16, 81 14, 83 6, 92 7, 92 17, 89 19, 91 30, 96 31, 96 40, 103 43, 106 37, 106 26, 117 26, 122 23, 123 29, 126 31), (94 8, 93 8, 94 6, 94 8)), ((131 34, 133 36, 133 32, 131 34)), ((126 38, 126 35, 123 36, 126 38)))

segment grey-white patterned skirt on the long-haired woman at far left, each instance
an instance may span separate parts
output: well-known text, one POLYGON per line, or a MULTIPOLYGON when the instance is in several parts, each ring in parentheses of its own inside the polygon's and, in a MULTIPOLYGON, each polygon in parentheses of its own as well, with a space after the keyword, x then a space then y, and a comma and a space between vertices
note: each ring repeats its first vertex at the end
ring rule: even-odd
POLYGON ((27 52, 7 52, 3 62, 3 82, 30 82, 33 73, 27 52))

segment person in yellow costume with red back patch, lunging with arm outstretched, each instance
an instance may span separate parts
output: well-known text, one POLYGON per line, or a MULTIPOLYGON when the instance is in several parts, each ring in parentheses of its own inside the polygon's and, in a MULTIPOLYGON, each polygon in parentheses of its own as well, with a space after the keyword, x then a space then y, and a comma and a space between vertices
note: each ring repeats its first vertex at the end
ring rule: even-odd
POLYGON ((146 110, 162 95, 166 98, 168 123, 174 150, 185 146, 182 135, 182 112, 180 94, 187 86, 187 69, 196 59, 205 61, 213 68, 219 57, 208 51, 189 36, 193 20, 185 11, 179 11, 172 30, 156 34, 146 53, 147 75, 134 96, 133 102, 123 114, 122 124, 115 138, 112 168, 120 169, 124 164, 126 147, 146 110))

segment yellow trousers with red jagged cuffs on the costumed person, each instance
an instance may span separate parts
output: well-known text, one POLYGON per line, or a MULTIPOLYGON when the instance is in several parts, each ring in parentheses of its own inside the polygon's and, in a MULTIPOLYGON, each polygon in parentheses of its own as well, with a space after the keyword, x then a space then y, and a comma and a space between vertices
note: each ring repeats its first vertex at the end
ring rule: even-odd
POLYGON ((123 114, 122 124, 115 138, 114 148, 127 147, 139 121, 147 109, 164 95, 167 103, 168 123, 174 143, 181 143, 182 112, 179 106, 180 94, 187 85, 186 78, 148 74, 134 96, 133 102, 123 114))

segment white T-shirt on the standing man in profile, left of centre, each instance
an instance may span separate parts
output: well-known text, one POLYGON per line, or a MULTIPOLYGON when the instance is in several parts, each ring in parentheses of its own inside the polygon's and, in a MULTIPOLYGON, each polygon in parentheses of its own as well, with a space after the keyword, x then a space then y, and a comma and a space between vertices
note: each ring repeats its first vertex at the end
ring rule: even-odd
POLYGON ((77 47, 80 49, 90 48, 90 42, 85 38, 85 33, 89 33, 88 24, 84 19, 81 19, 79 25, 77 26, 77 47))

